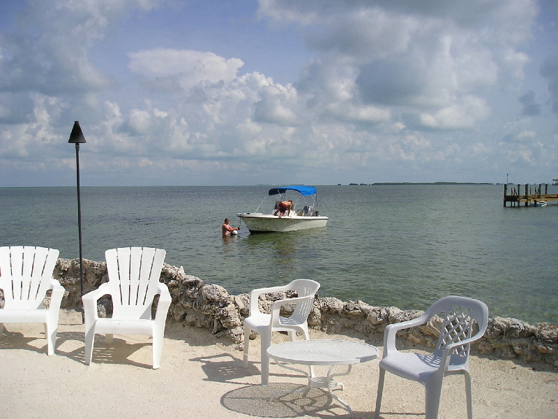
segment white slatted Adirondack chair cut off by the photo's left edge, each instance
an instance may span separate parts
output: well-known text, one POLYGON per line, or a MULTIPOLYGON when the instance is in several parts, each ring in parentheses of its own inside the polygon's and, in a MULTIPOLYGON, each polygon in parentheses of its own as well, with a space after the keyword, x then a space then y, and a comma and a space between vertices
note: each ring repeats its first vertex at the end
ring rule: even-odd
POLYGON ((64 287, 52 278, 59 251, 45 247, 0 247, 0 288, 4 308, 0 309, 0 335, 3 323, 44 323, 47 354, 54 353, 60 303, 64 287), (43 301, 52 290, 49 307, 43 301))

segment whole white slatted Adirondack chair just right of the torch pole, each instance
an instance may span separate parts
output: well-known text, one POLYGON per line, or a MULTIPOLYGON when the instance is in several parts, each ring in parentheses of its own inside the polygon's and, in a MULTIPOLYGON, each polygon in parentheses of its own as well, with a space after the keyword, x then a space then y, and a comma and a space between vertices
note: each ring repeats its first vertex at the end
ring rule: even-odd
POLYGON ((169 290, 159 282, 166 251, 149 247, 124 247, 105 252, 109 281, 82 297, 85 314, 85 363, 93 356, 95 334, 151 335, 153 369, 160 367, 165 321, 171 303, 169 290), (99 318, 97 300, 112 297, 112 318, 99 318), (153 299, 159 295, 155 318, 151 318, 153 299))

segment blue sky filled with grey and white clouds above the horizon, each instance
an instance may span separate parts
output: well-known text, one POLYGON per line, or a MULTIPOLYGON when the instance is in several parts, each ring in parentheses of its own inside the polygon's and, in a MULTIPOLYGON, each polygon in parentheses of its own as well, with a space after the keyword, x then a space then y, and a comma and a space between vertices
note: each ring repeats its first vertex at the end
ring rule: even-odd
POLYGON ((552 183, 555 0, 0 1, 0 187, 552 183))

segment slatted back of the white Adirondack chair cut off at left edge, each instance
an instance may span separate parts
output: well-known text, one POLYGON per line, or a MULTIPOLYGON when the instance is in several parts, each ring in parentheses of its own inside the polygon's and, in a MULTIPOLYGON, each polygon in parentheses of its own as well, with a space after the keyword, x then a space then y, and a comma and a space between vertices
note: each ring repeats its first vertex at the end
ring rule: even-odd
POLYGON ((41 309, 59 251, 45 247, 0 247, 0 288, 5 309, 41 309))

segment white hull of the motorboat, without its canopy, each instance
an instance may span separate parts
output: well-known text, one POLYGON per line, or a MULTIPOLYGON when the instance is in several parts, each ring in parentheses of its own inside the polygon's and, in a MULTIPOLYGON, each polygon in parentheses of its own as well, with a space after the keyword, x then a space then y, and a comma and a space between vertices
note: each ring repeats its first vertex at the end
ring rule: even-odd
POLYGON ((250 233, 282 233, 286 231, 306 230, 308 228, 325 227, 326 216, 278 216, 271 214, 242 213, 238 214, 246 224, 250 233))

